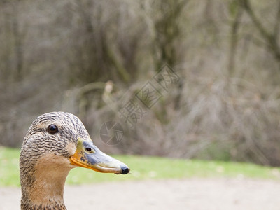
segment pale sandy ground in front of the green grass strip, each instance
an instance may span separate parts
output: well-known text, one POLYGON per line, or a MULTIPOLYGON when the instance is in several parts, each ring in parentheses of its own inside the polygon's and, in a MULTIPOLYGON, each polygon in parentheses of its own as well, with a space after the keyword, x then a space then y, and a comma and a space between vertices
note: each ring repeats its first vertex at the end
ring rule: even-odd
MULTIPOLYGON (((251 179, 127 181, 66 186, 67 209, 280 209, 280 182, 251 179)), ((20 209, 20 189, 0 188, 0 209, 20 209)))

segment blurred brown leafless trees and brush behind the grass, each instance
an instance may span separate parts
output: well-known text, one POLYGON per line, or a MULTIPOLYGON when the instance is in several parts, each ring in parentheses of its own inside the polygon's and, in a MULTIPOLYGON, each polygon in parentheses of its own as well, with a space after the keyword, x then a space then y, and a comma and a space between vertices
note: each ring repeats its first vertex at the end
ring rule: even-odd
POLYGON ((105 152, 279 166, 279 33, 277 0, 0 0, 0 145, 68 111, 105 152), (165 64, 181 82, 104 144, 165 64))

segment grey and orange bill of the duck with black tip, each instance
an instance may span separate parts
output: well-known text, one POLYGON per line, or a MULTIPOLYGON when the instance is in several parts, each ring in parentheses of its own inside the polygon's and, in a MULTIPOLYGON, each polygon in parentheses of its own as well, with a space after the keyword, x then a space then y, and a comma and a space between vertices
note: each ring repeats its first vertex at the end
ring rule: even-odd
POLYGON ((76 152, 69 158, 71 165, 85 167, 96 172, 127 174, 130 169, 123 162, 112 158, 97 148, 92 141, 78 138, 76 152))

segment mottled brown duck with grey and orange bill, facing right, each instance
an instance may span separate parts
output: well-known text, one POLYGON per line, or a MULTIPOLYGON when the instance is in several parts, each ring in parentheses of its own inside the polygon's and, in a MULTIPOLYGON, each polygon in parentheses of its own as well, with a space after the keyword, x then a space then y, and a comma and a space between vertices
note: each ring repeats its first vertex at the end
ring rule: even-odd
POLYGON ((20 151, 21 209, 66 209, 64 184, 75 167, 102 173, 130 172, 125 163, 94 145, 77 116, 62 111, 38 116, 20 151))

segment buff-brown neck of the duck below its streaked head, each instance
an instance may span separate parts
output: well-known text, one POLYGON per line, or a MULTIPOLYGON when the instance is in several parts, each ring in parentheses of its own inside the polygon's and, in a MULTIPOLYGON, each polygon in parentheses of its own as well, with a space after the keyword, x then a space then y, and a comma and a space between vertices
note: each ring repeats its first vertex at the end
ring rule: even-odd
MULTIPOLYGON (((57 157, 55 158, 61 163, 57 157)), ((50 164, 45 160, 38 160, 34 167, 23 175, 21 173, 22 185, 22 209, 66 209, 64 205, 63 193, 64 183, 71 167, 62 164, 50 164), (43 164, 42 164, 43 163, 43 164)))

